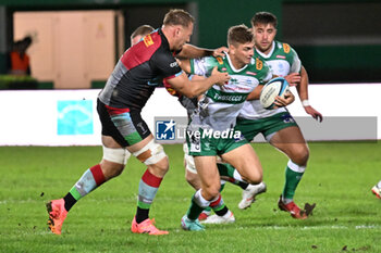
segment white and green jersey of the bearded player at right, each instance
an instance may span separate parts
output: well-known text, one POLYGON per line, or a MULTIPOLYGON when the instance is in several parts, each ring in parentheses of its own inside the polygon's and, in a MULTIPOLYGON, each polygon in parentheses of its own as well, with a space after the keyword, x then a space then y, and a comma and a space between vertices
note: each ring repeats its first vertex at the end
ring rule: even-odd
MULTIPOLYGON (((291 73, 299 73, 302 63, 297 53, 287 43, 281 43, 279 41, 273 41, 272 49, 268 54, 255 51, 256 56, 266 62, 272 74, 276 76, 284 77, 291 73)), ((247 119, 257 119, 269 117, 274 114, 285 112, 285 107, 266 110, 260 104, 259 100, 246 101, 244 107, 241 110, 238 117, 247 119)))

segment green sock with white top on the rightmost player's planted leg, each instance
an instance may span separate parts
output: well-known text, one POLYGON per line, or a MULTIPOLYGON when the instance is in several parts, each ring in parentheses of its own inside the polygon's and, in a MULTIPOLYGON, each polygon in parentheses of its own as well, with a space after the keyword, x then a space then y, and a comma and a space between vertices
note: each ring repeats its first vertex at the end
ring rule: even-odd
POLYGON ((285 168, 285 184, 282 193, 283 203, 288 204, 293 201, 296 187, 299 184, 305 170, 306 166, 299 166, 293 163, 291 160, 288 161, 285 168))

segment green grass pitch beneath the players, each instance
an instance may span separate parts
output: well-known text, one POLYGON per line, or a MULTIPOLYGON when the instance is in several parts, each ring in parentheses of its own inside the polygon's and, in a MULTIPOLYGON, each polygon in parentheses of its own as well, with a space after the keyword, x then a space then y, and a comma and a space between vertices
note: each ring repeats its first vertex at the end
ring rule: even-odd
POLYGON ((167 174, 150 211, 169 236, 130 231, 138 181, 145 166, 130 159, 123 174, 82 199, 69 213, 62 236, 47 230, 45 203, 62 198, 100 147, 0 148, 0 252, 381 252, 381 200, 371 187, 381 180, 381 142, 312 142, 309 166, 295 201, 317 203, 307 220, 276 207, 287 159, 255 143, 268 192, 241 211, 241 189, 226 185, 225 203, 236 217, 204 232, 180 227, 193 189, 184 179, 180 144, 165 146, 167 174))

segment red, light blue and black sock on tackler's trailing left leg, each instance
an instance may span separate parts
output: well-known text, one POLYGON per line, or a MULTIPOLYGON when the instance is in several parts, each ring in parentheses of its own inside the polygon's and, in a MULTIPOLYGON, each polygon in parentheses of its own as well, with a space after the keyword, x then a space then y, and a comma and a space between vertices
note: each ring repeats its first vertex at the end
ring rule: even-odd
POLYGON ((105 180, 105 175, 99 164, 87 169, 63 198, 65 210, 69 212, 79 199, 102 185, 105 180))

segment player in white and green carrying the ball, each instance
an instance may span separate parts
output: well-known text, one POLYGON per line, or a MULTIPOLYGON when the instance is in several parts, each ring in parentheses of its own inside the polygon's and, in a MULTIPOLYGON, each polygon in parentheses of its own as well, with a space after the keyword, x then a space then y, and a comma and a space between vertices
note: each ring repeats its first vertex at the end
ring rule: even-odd
POLYGON ((217 66, 230 74, 224 86, 212 86, 198 102, 187 128, 189 155, 194 156, 201 189, 192 198, 190 207, 182 218, 185 230, 204 230, 198 216, 208 206, 221 206, 220 175, 217 155, 234 166, 242 178, 258 184, 262 167, 250 144, 235 127, 236 116, 247 96, 259 85, 271 79, 269 67, 254 59, 251 31, 244 25, 233 26, 228 31, 229 53, 225 58, 202 58, 182 62, 183 69, 190 74, 210 76, 217 66))

